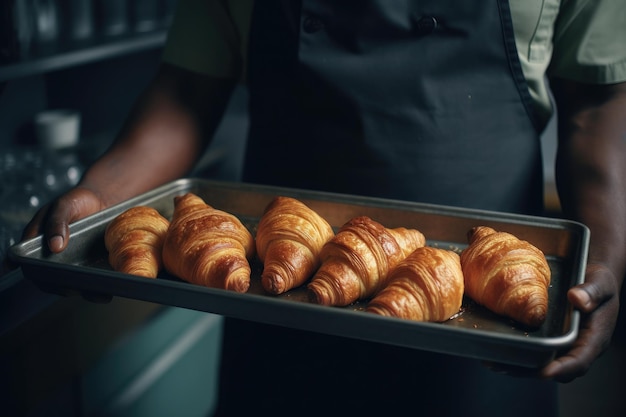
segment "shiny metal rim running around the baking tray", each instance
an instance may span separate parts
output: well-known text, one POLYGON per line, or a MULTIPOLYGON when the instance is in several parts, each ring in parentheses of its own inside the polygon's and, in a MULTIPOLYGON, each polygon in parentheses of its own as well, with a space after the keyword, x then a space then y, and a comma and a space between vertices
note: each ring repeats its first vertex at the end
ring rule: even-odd
MULTIPOLYGON (((403 200, 393 200, 393 199, 384 199, 377 197, 363 197, 349 194, 337 194, 337 193, 328 193, 314 190, 304 190, 304 189, 296 189, 296 188, 285 188, 285 187, 276 187, 276 186, 267 186, 267 185, 257 185, 257 184, 249 184, 249 183, 239 183, 239 182, 228 182, 228 181, 216 181, 216 180, 207 180, 207 179, 199 179, 199 178, 181 178, 170 183, 164 184, 160 187, 156 187, 153 190, 150 190, 146 193, 138 195, 136 197, 130 198, 126 201, 120 202, 116 205, 113 205, 107 209, 104 209, 94 215, 88 216, 84 219, 81 219, 75 223, 70 225, 70 233, 72 235, 78 235, 82 232, 89 231, 89 228, 86 225, 90 225, 90 227, 94 227, 95 225, 99 225, 102 223, 106 223, 110 221, 112 217, 117 215, 119 212, 124 210, 127 207, 141 204, 149 204, 150 201, 154 201, 159 199, 164 193, 177 193, 177 192, 185 192, 193 187, 199 187, 203 185, 209 185, 212 187, 226 187, 232 189, 236 187, 237 190, 248 190, 254 192, 266 192, 269 194, 280 194, 286 193, 288 195, 297 195, 297 194, 305 194, 307 198, 322 198, 326 201, 337 202, 337 203, 350 203, 350 204, 365 204, 365 205, 374 205, 377 207, 385 208, 390 207, 394 209, 400 210, 409 210, 409 211, 418 211, 424 213, 434 213, 437 215, 454 215, 454 216, 463 216, 474 218, 477 220, 480 219, 488 219, 490 221, 502 221, 502 222, 510 222, 514 220, 516 224, 520 225, 537 225, 540 224, 542 227, 550 227, 550 228, 559 228, 559 227, 573 227, 580 234, 580 247, 578 248, 580 251, 580 263, 582 268, 577 272, 576 279, 574 280, 574 285, 580 284, 584 281, 584 265, 586 265, 587 261, 587 247, 589 242, 589 229, 582 223, 566 220, 566 219, 557 219, 557 218, 548 218, 541 216, 529 216, 529 215, 521 215, 521 214, 512 214, 512 213, 503 213, 496 211, 488 211, 488 210, 479 210, 479 209, 465 209, 453 206, 442 206, 436 204, 429 203, 419 203, 419 202, 409 202, 403 200), (96 222, 94 223, 94 219, 96 222)), ((109 277, 110 279, 119 279, 123 278, 123 282, 131 283, 131 285, 145 285, 145 278, 135 277, 128 274, 122 274, 115 271, 108 271, 104 269, 99 269, 95 267, 89 266, 78 266, 74 264, 67 264, 58 261, 51 261, 46 259, 36 259, 30 256, 30 254, 41 251, 43 249, 43 236, 39 235, 32 239, 19 242, 13 245, 9 250, 9 255, 11 258, 18 263, 23 269, 23 275, 32 280, 38 285, 48 284, 49 281, 44 276, 37 276, 38 274, 30 274, 30 272, 35 272, 37 270, 45 270, 52 269, 56 271, 66 271, 69 272, 69 275, 85 275, 89 271, 97 271, 95 275, 103 275, 109 277)), ((58 282, 58 281, 57 281, 58 282)), ((440 323, 426 323, 426 322, 411 322, 408 320, 397 319, 392 317, 380 317, 373 314, 364 314, 363 312, 355 312, 350 309, 342 309, 342 308, 329 308, 327 306, 318 306, 314 304, 307 303, 297 303, 297 302, 285 302, 283 299, 272 298, 267 296, 261 296, 257 294, 245 293, 238 294, 226 290, 215 289, 215 288, 205 288, 199 286, 193 286, 193 284, 185 283, 185 282, 177 282, 170 280, 155 280, 156 286, 162 288, 163 290, 173 290, 173 291, 193 291, 199 292, 201 294, 205 294, 209 298, 219 297, 224 300, 235 300, 235 302, 247 302, 255 304, 257 301, 262 302, 265 305, 268 305, 271 308, 277 310, 283 310, 295 307, 298 310, 302 310, 304 314, 318 314, 318 315, 327 315, 334 314, 339 315, 339 317, 344 317, 344 315, 348 314, 351 320, 368 320, 373 323, 377 323, 377 325, 388 325, 393 326, 394 328, 411 330, 414 328, 420 329, 422 332, 444 332, 446 334, 450 334, 453 337, 460 338, 476 338, 482 337, 486 340, 497 340, 503 346, 511 346, 515 348, 528 349, 539 352, 554 352, 557 349, 567 347, 578 336, 578 327, 580 323, 580 312, 576 309, 571 309, 568 315, 569 325, 567 326, 567 331, 564 331, 560 335, 555 336, 531 336, 528 338, 521 338, 517 335, 511 334, 501 334, 491 331, 491 330, 481 330, 481 329, 464 329, 452 326, 442 326, 440 323), (243 297, 243 298, 242 298, 243 297), (252 298, 251 298, 252 297, 252 298), (354 316, 356 315, 356 316, 354 316), (380 323, 380 324, 378 324, 380 323)), ((71 286, 68 286, 68 288, 71 286)), ((89 287, 89 286, 87 286, 89 287)), ((82 287, 84 291, 88 291, 85 289, 85 286, 82 287)), ((79 288, 80 290, 80 288, 79 288)), ((182 308, 192 308, 194 310, 216 313, 216 314, 224 314, 223 312, 215 312, 211 309, 205 308, 193 308, 186 307, 185 305, 179 305, 174 303, 165 303, 162 301, 154 301, 154 297, 138 297, 136 295, 127 294, 127 291, 117 291, 117 293, 113 293, 113 296, 122 296, 127 298, 135 298, 135 299, 143 299, 144 301, 153 301, 158 303, 163 303, 167 305, 176 305, 182 308)), ((224 314, 224 315, 232 315, 232 314, 224 314)), ((261 321, 261 320, 257 320, 261 321)), ((281 324, 281 323, 271 323, 271 324, 281 324)), ((283 323, 284 325, 284 323, 283 323)), ((287 327, 295 327, 295 326, 287 326, 287 327)), ((565 324, 564 324, 565 327, 565 324)), ((310 330, 307 328, 307 330, 310 330)), ((316 331, 316 330, 312 330, 316 331)), ((410 347, 410 346, 408 346, 410 347)), ((419 349, 419 347, 416 347, 419 349)), ((524 364, 522 364, 524 365, 524 364)), ((531 365, 535 366, 535 365, 531 365)))

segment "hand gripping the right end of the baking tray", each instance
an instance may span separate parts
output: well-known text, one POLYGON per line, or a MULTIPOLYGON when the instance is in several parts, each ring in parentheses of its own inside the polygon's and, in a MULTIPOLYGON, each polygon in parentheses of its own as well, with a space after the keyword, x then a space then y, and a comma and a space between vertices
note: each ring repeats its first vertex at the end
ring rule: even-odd
POLYGON ((567 294, 582 314, 578 338, 569 351, 559 354, 540 373, 546 379, 570 382, 587 373, 609 347, 619 314, 617 277, 598 264, 587 266, 585 283, 567 294))

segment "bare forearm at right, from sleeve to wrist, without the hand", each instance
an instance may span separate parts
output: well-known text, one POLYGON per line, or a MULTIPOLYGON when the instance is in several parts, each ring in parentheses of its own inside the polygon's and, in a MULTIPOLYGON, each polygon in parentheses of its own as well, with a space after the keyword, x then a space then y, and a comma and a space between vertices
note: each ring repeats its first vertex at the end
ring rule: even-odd
POLYGON ((626 270, 626 87, 554 82, 556 179, 565 215, 591 230, 589 264, 626 270))

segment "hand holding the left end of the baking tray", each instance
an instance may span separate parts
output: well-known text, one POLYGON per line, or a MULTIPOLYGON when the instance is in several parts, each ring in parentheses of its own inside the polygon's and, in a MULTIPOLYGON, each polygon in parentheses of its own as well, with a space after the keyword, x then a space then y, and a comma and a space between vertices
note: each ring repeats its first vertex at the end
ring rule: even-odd
POLYGON ((42 207, 24 228, 22 240, 44 235, 48 249, 63 251, 69 241, 69 225, 104 208, 102 200, 84 187, 72 188, 42 207))

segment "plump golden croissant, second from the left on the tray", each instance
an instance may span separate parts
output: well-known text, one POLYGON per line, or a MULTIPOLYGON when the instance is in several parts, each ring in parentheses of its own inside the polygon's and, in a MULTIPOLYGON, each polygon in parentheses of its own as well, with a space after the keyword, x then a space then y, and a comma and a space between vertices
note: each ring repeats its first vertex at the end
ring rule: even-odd
POLYGON ((165 269, 187 282, 246 292, 254 239, 234 215, 187 193, 174 198, 163 244, 165 269))

